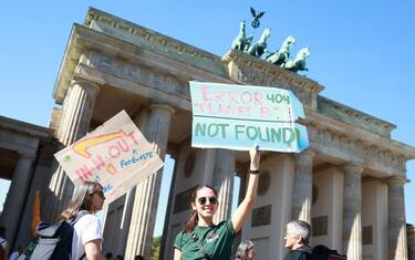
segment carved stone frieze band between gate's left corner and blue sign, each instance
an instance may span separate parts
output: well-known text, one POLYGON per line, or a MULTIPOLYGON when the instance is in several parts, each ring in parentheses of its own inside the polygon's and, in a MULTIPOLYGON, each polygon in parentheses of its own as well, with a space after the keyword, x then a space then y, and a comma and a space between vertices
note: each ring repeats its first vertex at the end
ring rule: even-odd
POLYGON ((101 71, 120 74, 128 80, 151 85, 168 93, 175 93, 186 98, 190 96, 189 90, 185 84, 145 66, 129 64, 96 52, 90 53, 87 65, 101 71))

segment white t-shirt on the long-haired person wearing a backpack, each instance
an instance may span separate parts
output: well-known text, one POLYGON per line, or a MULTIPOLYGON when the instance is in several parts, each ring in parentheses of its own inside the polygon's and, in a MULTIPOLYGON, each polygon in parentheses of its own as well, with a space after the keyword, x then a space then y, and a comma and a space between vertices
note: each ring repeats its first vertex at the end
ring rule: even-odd
MULTIPOLYGON (((85 243, 102 238, 102 226, 100 219, 92 214, 82 216, 73 226, 72 259, 80 259, 85 252, 85 243)), ((86 257, 84 258, 86 259, 86 257)))

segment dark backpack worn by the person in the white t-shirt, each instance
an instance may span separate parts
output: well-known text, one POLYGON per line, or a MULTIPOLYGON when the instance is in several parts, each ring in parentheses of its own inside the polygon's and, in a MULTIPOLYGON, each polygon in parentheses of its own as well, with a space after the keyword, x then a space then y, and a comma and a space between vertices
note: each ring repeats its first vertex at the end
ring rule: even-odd
MULTIPOLYGON (((31 260, 71 260, 73 226, 80 218, 87 215, 87 211, 80 211, 71 222, 60 221, 55 223, 40 222, 37 226, 39 235, 38 246, 34 248, 31 260)), ((84 256, 81 257, 81 259, 84 256)))

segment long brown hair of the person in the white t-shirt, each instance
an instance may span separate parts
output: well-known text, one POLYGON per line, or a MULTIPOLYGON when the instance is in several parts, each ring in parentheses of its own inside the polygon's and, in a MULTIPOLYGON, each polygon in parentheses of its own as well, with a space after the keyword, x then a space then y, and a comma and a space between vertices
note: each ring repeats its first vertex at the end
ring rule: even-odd
POLYGON ((102 189, 103 187, 96 181, 82 183, 77 187, 76 194, 73 196, 69 207, 59 216, 59 220, 70 221, 81 210, 91 211, 92 195, 97 191, 98 188, 102 189))

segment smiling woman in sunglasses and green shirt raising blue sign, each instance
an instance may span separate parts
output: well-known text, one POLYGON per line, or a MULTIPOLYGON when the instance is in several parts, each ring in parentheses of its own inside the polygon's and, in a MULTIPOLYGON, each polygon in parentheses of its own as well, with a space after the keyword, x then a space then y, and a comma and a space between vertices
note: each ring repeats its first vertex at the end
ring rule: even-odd
POLYGON ((191 194, 193 214, 184 231, 174 243, 174 260, 230 259, 235 235, 241 230, 257 198, 260 154, 258 147, 249 152, 250 170, 246 196, 235 215, 218 225, 214 215, 218 209, 218 193, 215 188, 198 186, 191 194))

